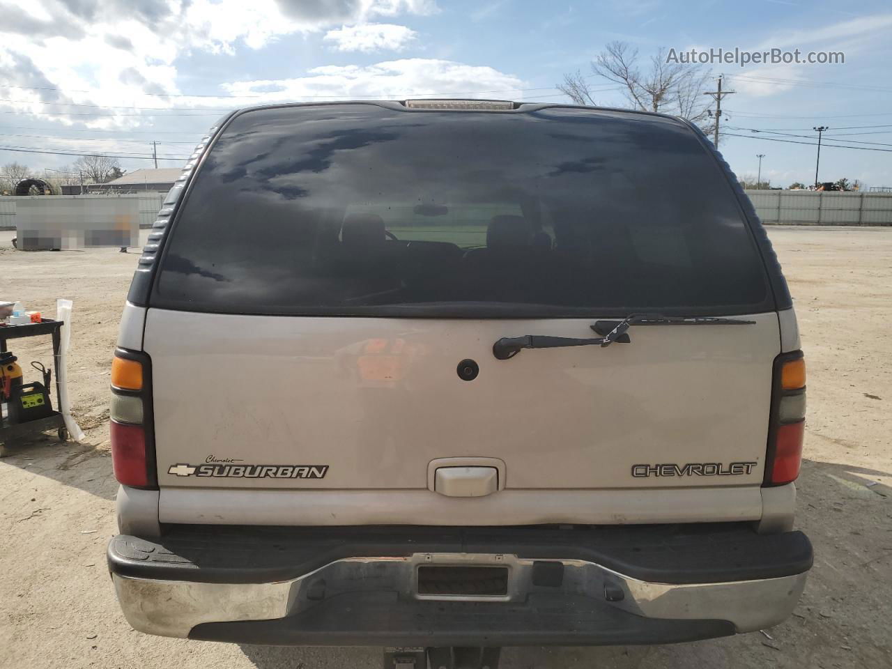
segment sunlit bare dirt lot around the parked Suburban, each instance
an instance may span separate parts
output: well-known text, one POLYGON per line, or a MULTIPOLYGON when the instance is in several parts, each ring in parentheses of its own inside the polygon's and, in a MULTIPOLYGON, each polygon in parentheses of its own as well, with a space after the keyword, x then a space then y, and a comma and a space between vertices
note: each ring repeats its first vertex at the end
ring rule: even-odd
MULTIPOLYGON (((892 666, 892 228, 772 228, 808 361, 797 524, 815 565, 767 634, 654 648, 508 648, 506 667, 892 666), (887 418, 883 418, 883 417, 887 418), (770 636, 769 636, 770 635, 770 636)), ((0 297, 74 301, 70 387, 85 442, 47 438, 0 461, 0 666, 376 667, 377 648, 264 648, 130 629, 104 565, 115 531, 109 360, 136 253, 24 253, 0 232, 0 297)), ((32 342, 37 340, 31 340, 32 342)), ((49 361, 46 343, 16 343, 49 361)))

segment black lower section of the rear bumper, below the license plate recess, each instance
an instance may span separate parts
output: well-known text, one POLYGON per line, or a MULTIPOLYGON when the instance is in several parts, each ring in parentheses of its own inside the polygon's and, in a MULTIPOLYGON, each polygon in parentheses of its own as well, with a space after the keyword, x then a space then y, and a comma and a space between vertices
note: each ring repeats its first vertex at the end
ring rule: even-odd
POLYGON ((525 602, 401 600, 351 593, 276 620, 196 625, 190 639, 292 646, 592 646, 674 643, 729 636, 721 620, 657 620, 584 597, 525 602))

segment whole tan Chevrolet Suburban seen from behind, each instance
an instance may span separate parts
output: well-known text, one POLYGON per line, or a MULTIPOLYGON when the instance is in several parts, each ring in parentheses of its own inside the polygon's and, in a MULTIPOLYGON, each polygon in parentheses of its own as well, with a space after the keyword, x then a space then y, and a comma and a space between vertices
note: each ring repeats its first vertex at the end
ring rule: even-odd
POLYGON ((493 667, 768 627, 812 565, 787 285, 684 120, 236 111, 163 204, 111 380, 142 632, 493 667))

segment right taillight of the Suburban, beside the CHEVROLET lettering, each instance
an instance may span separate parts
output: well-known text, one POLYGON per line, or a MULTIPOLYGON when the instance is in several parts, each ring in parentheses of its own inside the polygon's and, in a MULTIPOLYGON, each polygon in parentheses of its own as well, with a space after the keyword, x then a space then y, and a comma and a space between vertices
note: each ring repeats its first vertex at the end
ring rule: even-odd
POLYGON ((781 353, 774 359, 764 485, 785 485, 797 479, 804 435, 805 359, 802 351, 781 353))

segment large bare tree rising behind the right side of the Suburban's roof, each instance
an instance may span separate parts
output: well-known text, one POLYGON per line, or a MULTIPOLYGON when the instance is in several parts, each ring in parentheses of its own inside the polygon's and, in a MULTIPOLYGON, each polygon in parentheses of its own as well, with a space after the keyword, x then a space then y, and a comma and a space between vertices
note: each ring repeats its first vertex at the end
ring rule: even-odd
POLYGON ((697 123, 708 132, 714 120, 710 118, 710 101, 703 93, 709 82, 710 71, 696 65, 666 62, 665 48, 650 57, 645 70, 639 66, 638 49, 625 42, 611 42, 591 62, 591 75, 581 71, 565 74, 558 90, 577 104, 597 104, 598 87, 591 78, 602 78, 618 84, 632 109, 662 111, 697 123))

